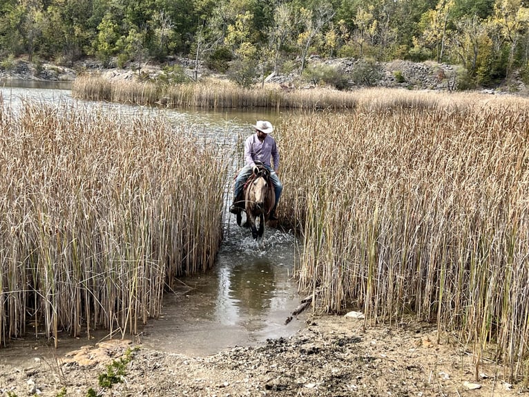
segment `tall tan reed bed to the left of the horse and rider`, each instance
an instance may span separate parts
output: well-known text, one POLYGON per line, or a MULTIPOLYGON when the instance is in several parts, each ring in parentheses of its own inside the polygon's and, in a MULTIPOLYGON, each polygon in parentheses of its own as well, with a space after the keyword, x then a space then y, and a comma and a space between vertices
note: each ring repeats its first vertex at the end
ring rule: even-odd
POLYGON ((135 332, 175 276, 211 267, 222 239, 222 146, 162 118, 76 105, 3 108, 0 342, 135 332))

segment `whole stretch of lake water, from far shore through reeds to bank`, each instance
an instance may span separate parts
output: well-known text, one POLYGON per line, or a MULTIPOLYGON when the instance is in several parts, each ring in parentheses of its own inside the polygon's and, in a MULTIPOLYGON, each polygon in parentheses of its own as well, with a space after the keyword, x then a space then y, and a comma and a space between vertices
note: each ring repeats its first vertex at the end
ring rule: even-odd
MULTIPOLYGON (((3 105, 16 108, 23 100, 43 102, 75 102, 63 87, 28 88, 0 86, 3 105)), ((81 102, 124 115, 141 111, 156 113, 156 109, 81 102)), ((161 111, 160 111, 161 112, 161 111)), ((224 144, 234 151, 241 137, 252 133, 251 124, 258 119, 276 122, 277 113, 182 112, 164 110, 164 116, 175 124, 189 124, 191 131, 215 139, 219 133, 229 134, 224 144)), ((235 162, 232 167, 236 167, 235 162)), ((230 173, 231 175, 231 173, 230 173)), ((227 181, 225 203, 231 201, 231 181, 227 181)), ((246 346, 268 338, 288 337, 302 328, 304 315, 285 324, 289 313, 299 304, 296 283, 291 279, 298 242, 289 231, 265 228, 264 237, 256 242, 251 232, 239 228, 234 216, 226 213, 224 240, 213 270, 180 279, 181 286, 164 295, 162 316, 149 320, 133 338, 145 347, 206 356, 222 349, 246 346)), ((113 335, 120 338, 121 335, 113 335)), ((0 348, 0 363, 28 362, 39 358, 54 360, 67 351, 109 338, 108 331, 92 333, 90 339, 59 339, 55 350, 44 335, 30 333, 21 340, 8 342, 0 348)), ((131 335, 126 335, 131 338, 131 335)))

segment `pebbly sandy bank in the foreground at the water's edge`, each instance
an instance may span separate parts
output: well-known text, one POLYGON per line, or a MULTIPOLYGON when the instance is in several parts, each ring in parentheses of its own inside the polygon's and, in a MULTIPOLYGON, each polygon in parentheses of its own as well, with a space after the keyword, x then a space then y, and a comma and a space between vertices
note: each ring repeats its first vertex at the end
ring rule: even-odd
MULTIPOLYGON (((0 365, 0 396, 514 396, 503 367, 462 347, 436 343, 430 324, 371 326, 363 320, 309 316, 287 339, 206 357, 145 349, 127 340, 82 347, 56 360, 0 365), (132 350, 121 382, 98 377, 132 350)), ((1 351, 0 351, 1 354, 1 351)))

